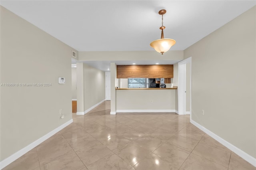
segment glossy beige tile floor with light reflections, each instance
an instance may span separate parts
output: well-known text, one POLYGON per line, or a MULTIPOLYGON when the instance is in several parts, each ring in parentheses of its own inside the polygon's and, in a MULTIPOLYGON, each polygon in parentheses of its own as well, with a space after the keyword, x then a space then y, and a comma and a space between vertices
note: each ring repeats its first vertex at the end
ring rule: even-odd
POLYGON ((106 101, 4 170, 256 170, 175 113, 110 115, 106 101))

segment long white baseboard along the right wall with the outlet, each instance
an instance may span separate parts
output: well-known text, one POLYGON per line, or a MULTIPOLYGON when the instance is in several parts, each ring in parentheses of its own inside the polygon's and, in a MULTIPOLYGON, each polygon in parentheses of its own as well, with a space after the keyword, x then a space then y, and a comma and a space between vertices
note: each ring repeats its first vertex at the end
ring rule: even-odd
POLYGON ((244 152, 241 149, 237 148, 236 146, 232 145, 228 141, 224 140, 217 134, 211 132, 210 130, 208 130, 207 128, 203 127, 202 125, 196 123, 195 121, 191 120, 190 122, 193 125, 195 125, 196 127, 200 128, 200 130, 204 131, 206 134, 208 134, 209 136, 211 136, 212 138, 214 138, 215 140, 217 140, 218 142, 220 142, 221 144, 226 146, 228 149, 232 150, 232 152, 234 152, 235 154, 237 154, 238 156, 240 156, 241 158, 243 158, 244 160, 246 160, 247 162, 249 162, 250 164, 252 164, 253 166, 256 167, 256 158, 250 156, 246 152, 244 152))

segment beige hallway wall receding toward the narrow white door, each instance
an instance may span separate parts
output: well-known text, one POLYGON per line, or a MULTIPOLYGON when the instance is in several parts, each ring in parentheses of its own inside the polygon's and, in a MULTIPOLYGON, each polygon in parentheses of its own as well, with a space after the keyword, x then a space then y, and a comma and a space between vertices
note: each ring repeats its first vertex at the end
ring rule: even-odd
POLYGON ((84 111, 105 99, 105 72, 83 63, 84 111))

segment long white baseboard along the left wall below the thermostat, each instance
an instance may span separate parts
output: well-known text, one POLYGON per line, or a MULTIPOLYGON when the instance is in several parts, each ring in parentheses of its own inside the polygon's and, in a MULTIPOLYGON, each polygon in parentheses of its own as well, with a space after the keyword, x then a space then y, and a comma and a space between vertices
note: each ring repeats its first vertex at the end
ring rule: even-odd
POLYGON ((58 131, 62 130, 64 127, 70 125, 70 123, 73 122, 73 119, 70 119, 69 121, 67 121, 66 123, 60 125, 59 127, 55 128, 54 130, 50 131, 49 133, 47 133, 46 135, 42 136, 41 138, 39 138, 38 140, 32 142, 31 144, 29 144, 28 146, 22 148, 21 150, 19 150, 18 152, 12 154, 11 156, 9 156, 8 158, 2 160, 0 162, 0 169, 6 167, 7 165, 9 165, 10 163, 12 163, 14 160, 20 158, 20 156, 26 154, 28 151, 30 151, 31 149, 33 149, 34 147, 38 146, 40 143, 44 142, 46 139, 50 138, 52 135, 56 134, 58 131))

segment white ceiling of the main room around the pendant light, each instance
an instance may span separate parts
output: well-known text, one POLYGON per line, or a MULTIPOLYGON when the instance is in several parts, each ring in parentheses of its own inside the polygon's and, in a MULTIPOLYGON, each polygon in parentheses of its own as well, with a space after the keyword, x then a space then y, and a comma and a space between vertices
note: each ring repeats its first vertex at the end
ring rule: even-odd
POLYGON ((0 4, 78 51, 153 51, 164 15, 171 50, 184 50, 256 0, 1 0, 0 4))

